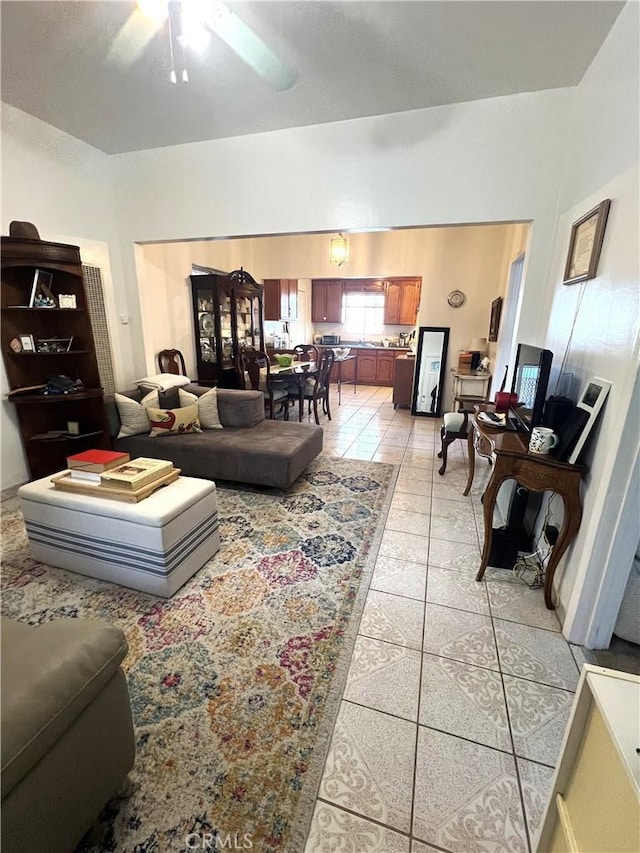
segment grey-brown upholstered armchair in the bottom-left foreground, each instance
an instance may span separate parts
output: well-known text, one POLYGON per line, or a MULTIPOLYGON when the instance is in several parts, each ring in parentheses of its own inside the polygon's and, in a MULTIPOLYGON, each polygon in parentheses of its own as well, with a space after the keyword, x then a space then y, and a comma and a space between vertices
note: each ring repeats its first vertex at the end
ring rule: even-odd
POLYGON ((2 619, 2 849, 70 853, 135 756, 122 631, 2 619))

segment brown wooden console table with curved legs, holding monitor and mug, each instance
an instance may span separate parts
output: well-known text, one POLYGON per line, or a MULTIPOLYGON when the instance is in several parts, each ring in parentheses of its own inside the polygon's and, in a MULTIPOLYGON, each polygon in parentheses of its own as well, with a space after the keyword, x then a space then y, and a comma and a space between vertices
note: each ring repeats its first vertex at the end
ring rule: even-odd
POLYGON ((580 479, 586 468, 584 465, 569 465, 566 462, 558 462, 552 456, 529 453, 529 436, 527 433, 510 432, 487 426, 478 420, 478 411, 491 411, 492 408, 492 406, 476 407, 476 413, 471 416, 471 429, 467 439, 469 479, 464 490, 465 495, 469 494, 473 483, 476 449, 481 456, 489 456, 494 460, 493 473, 482 497, 484 547, 476 580, 482 580, 489 561, 493 538, 493 511, 498 490, 502 483, 505 480, 516 480, 517 483, 533 492, 556 492, 564 503, 564 518, 558 539, 551 549, 544 579, 544 603, 549 610, 554 610, 555 605, 552 601, 553 576, 562 555, 573 541, 580 527, 582 520, 580 479))

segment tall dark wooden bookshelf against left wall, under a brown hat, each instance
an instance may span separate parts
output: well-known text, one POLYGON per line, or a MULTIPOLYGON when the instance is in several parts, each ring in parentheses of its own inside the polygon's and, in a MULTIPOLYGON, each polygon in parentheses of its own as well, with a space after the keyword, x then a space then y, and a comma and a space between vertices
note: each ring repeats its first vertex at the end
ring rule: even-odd
POLYGON ((66 468, 66 457, 74 453, 109 448, 111 439, 80 249, 23 237, 3 237, 0 249, 9 401, 16 407, 29 471, 36 479, 66 468), (50 295, 41 291, 46 299, 36 298, 36 282, 46 284, 50 295), (61 374, 81 380, 83 388, 44 394, 48 379, 61 374))

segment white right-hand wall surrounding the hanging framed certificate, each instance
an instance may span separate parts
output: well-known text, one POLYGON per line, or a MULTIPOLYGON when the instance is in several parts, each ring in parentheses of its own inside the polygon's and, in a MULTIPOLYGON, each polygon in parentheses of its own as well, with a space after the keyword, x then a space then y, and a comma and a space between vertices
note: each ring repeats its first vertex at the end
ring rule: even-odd
POLYGON ((546 345, 556 367, 566 358, 573 392, 592 376, 612 383, 587 453, 582 525, 558 574, 563 631, 593 648, 609 644, 638 541, 639 18, 640 6, 627 4, 576 90, 547 288, 546 345), (571 224, 604 198, 598 275, 565 286, 571 224))

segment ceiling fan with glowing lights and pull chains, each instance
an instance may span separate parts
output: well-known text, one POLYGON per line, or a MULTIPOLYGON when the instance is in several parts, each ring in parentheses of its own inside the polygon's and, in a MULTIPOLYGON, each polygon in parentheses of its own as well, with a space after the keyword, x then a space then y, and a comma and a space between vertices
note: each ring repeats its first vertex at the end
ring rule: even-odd
POLYGON ((188 83, 187 54, 201 53, 211 35, 229 47, 275 89, 290 89, 298 74, 281 60, 239 15, 221 0, 138 0, 114 40, 110 59, 129 64, 139 56, 160 28, 166 26, 173 83, 188 83))

